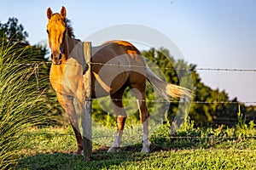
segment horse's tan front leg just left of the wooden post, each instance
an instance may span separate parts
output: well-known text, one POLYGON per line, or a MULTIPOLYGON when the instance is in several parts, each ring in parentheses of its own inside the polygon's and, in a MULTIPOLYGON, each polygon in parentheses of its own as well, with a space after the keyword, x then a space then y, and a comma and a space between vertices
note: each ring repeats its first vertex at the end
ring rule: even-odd
POLYGON ((75 137, 77 139, 78 149, 75 152, 76 155, 81 155, 83 151, 83 138, 81 136, 79 130, 78 118, 76 115, 76 111, 73 105, 73 97, 69 97, 66 95, 57 94, 57 99, 59 100, 61 106, 66 111, 69 122, 73 128, 73 132, 75 133, 75 137))

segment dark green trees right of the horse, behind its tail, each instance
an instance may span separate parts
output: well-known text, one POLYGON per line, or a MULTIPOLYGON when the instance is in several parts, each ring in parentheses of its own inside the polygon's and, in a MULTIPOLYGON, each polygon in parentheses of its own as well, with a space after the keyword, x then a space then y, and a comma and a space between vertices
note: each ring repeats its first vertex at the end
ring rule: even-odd
MULTIPOLYGON (((191 71, 194 88, 193 103, 190 107, 189 116, 194 120, 195 124, 227 124, 234 125, 236 123, 237 105, 241 105, 241 111, 245 114, 247 119, 254 120, 253 111, 255 107, 246 107, 237 101, 237 99, 230 99, 225 91, 219 89, 212 89, 201 82, 200 75, 196 72, 196 65, 188 64, 183 59, 175 60, 166 48, 156 50, 151 48, 148 51, 143 51, 143 56, 152 60, 159 66, 166 77, 167 82, 179 84, 181 81, 186 81, 189 68, 191 71), (180 75, 181 80, 179 80, 180 75)), ((149 94, 147 94, 149 95, 149 94)), ((168 111, 168 119, 172 122, 172 117, 177 112, 178 103, 172 103, 168 111)), ((255 114, 254 114, 255 115, 255 114)))

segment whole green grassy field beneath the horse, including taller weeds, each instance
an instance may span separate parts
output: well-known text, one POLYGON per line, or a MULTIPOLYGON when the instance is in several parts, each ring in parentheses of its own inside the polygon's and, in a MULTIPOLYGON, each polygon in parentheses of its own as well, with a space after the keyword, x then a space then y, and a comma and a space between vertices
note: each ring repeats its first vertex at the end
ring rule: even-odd
MULTIPOLYGON (((74 156, 71 127, 31 129, 30 146, 16 169, 256 169, 255 125, 199 128, 185 122, 170 136, 168 125, 151 136, 151 153, 140 153, 142 144, 126 145, 118 153, 93 144, 90 161, 74 156)), ((112 138, 111 138, 112 140, 112 138)))

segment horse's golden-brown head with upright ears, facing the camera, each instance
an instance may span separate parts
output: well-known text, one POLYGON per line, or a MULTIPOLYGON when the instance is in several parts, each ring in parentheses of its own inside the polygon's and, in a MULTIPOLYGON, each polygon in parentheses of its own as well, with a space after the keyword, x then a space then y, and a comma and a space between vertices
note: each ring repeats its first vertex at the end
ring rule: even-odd
POLYGON ((51 59, 55 65, 61 64, 64 54, 66 26, 66 8, 61 8, 61 13, 53 14, 50 8, 47 9, 48 25, 47 33, 49 40, 49 48, 51 50, 51 59))

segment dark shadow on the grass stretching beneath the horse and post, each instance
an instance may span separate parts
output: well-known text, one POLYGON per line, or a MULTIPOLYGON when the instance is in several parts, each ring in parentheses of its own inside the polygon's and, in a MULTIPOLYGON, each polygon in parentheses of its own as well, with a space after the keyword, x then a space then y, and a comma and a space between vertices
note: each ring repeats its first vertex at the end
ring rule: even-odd
POLYGON ((147 162, 148 157, 160 151, 176 151, 183 149, 197 149, 192 143, 172 140, 154 140, 150 145, 149 154, 141 153, 142 144, 134 144, 119 149, 117 153, 107 153, 108 147, 101 147, 94 150, 90 161, 84 161, 83 156, 75 156, 72 153, 38 153, 27 156, 18 162, 16 169, 108 169, 124 168, 132 162, 147 162), (166 140, 166 141, 165 141, 166 140), (170 142, 172 144, 170 144, 170 142))

